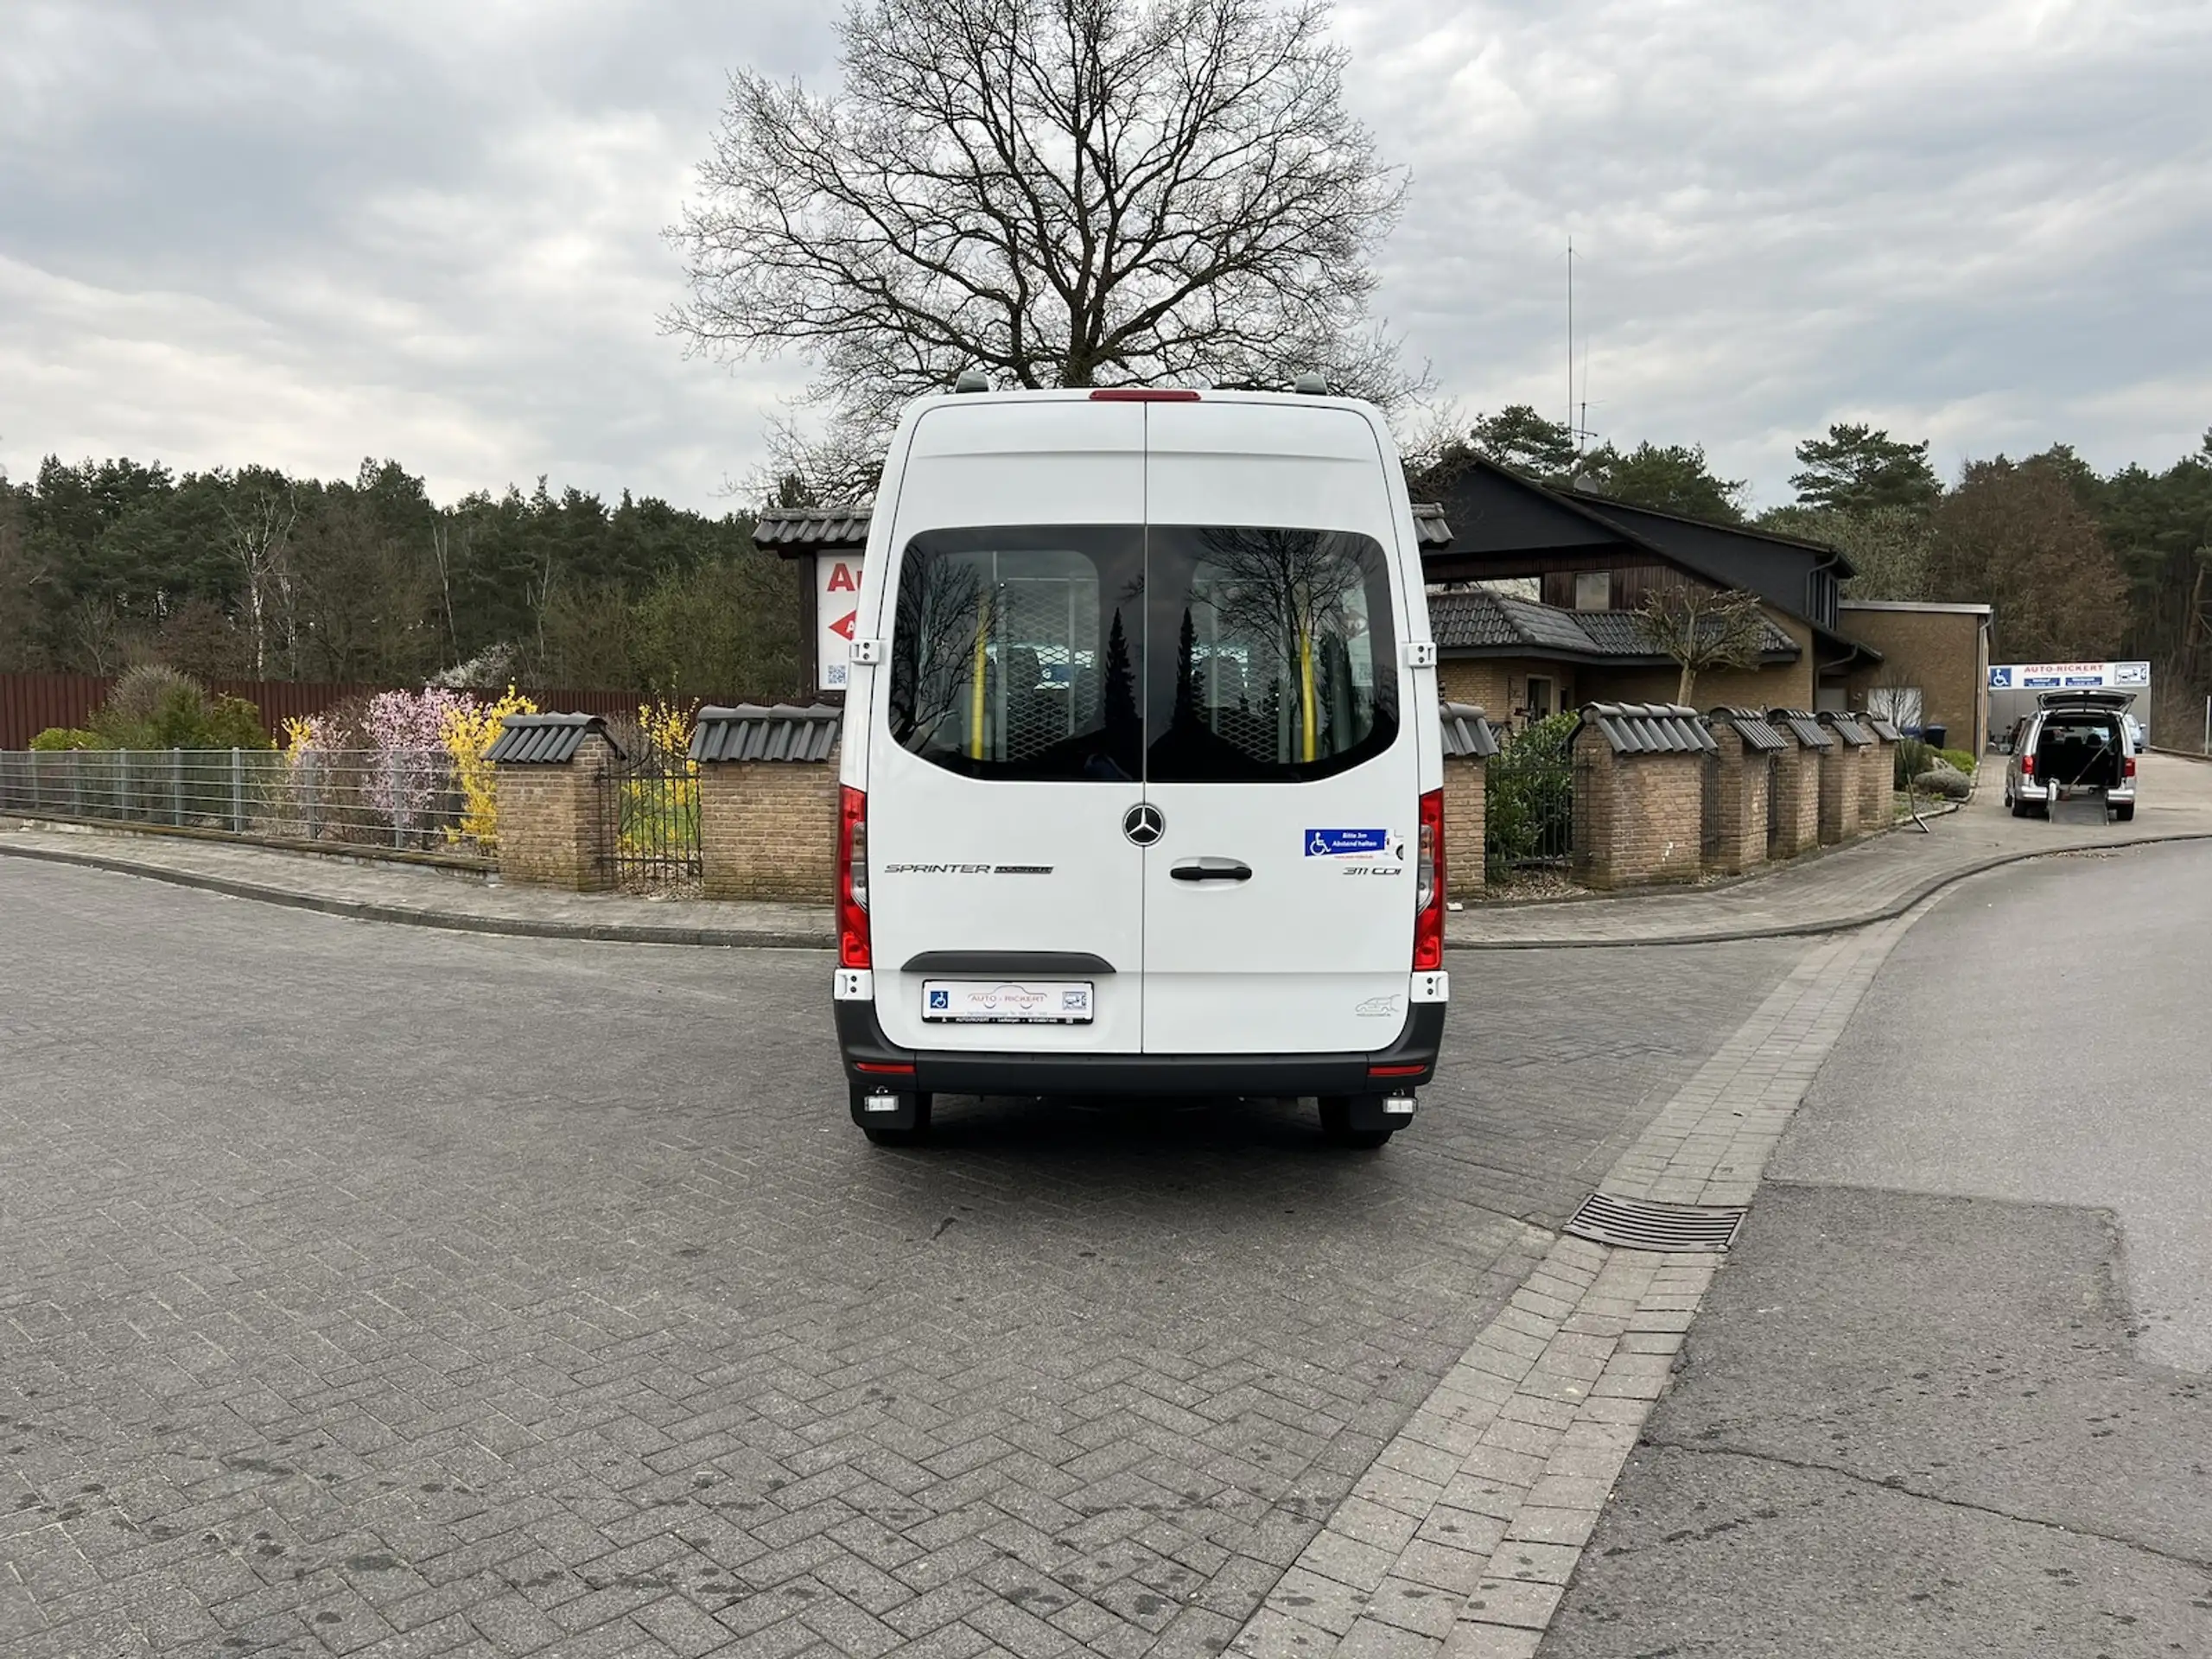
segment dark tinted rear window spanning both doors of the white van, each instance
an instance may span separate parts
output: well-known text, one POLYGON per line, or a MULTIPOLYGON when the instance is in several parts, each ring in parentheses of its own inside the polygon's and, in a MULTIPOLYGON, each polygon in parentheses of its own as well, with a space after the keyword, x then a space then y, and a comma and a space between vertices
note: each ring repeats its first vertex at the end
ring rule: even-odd
POLYGON ((927 531, 900 555, 887 717, 978 779, 1329 776, 1398 737, 1389 566, 1345 531, 927 531))

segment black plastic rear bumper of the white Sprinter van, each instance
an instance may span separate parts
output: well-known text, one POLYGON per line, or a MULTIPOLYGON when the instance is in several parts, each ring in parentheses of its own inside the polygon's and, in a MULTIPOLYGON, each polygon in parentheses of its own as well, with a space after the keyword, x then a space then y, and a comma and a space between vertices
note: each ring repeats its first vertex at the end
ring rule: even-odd
POLYGON ((1444 1002, 1416 1002, 1389 1048, 1354 1055, 1022 1055, 900 1048, 872 1002, 836 1002, 856 1086, 925 1095, 1385 1095, 1436 1079, 1444 1002), (876 1071, 883 1066, 885 1071, 876 1071), (898 1071, 889 1071, 889 1068, 898 1071), (914 1071, 907 1073, 905 1068, 914 1071), (1374 1075, 1374 1068, 1389 1068, 1374 1075), (1411 1068, 1411 1071, 1409 1071, 1411 1068))

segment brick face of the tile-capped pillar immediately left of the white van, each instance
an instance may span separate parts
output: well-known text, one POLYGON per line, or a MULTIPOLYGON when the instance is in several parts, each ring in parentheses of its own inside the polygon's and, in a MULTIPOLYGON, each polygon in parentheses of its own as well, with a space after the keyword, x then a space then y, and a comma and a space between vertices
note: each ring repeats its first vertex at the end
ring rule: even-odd
POLYGON ((708 898, 836 898, 836 759, 701 761, 699 869, 708 898))

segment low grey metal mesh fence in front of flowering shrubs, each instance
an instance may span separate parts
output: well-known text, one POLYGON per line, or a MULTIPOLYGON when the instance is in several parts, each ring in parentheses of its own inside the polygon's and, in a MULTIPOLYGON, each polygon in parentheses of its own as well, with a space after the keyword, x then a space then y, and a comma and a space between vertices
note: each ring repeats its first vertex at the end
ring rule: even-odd
POLYGON ((442 750, 4 750, 0 812, 411 852, 487 854, 491 841, 491 814, 442 750))

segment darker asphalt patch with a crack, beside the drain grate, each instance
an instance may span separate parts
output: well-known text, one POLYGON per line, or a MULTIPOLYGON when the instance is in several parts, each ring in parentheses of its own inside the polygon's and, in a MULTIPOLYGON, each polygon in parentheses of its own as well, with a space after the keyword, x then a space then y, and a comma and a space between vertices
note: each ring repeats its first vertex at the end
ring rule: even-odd
POLYGON ((2212 1652, 2212 1389, 2117 1263, 2097 1210, 1761 1188, 1542 1652, 2212 1652))

